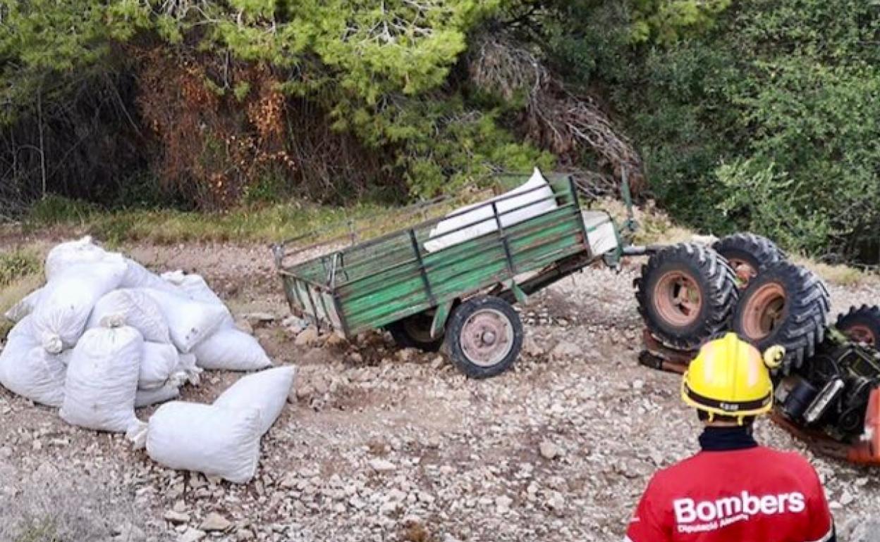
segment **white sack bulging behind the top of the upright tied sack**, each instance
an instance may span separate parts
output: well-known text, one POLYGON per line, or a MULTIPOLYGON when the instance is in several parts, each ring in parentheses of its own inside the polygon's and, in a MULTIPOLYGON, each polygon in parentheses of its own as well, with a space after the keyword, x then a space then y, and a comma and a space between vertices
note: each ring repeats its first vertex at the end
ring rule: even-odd
POLYGON ((142 290, 121 289, 107 293, 95 304, 85 327, 97 328, 101 319, 111 314, 122 314, 126 325, 140 331, 144 341, 171 343, 171 335, 162 310, 158 303, 142 290))

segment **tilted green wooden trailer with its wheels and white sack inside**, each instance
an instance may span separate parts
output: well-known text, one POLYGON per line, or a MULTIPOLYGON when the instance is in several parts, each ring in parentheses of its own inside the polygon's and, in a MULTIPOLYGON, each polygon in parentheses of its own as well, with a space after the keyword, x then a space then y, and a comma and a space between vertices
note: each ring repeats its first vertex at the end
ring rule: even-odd
POLYGON ((624 253, 611 216, 583 210, 571 177, 492 197, 524 178, 401 210, 392 217, 396 231, 364 242, 349 224, 340 236, 314 232, 276 244, 291 311, 348 338, 386 329, 402 346, 442 347, 474 378, 503 372, 523 342, 514 303, 599 259, 616 265, 624 253))

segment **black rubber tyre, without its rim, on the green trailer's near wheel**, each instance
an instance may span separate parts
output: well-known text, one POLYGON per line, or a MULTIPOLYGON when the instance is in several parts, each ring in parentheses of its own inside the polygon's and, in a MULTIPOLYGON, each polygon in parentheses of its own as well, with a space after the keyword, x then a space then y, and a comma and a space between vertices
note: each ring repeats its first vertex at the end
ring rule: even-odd
POLYGON ((472 379, 488 379, 507 371, 517 361, 520 350, 523 349, 523 322, 519 319, 517 311, 505 300, 491 295, 481 295, 466 300, 458 307, 452 309, 449 322, 446 322, 444 343, 442 351, 450 359, 459 371, 464 372, 472 379), (492 308, 504 314, 513 326, 513 345, 501 361, 495 365, 484 367, 471 362, 461 347, 461 329, 471 314, 480 309, 492 308))

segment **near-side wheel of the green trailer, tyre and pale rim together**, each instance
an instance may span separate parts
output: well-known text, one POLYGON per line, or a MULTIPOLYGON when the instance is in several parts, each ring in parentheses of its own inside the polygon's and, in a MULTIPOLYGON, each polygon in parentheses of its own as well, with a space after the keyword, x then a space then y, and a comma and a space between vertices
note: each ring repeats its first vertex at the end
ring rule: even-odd
POLYGON ((458 370, 487 379, 510 368, 523 347, 523 324, 505 300, 480 296, 456 307, 446 324, 444 350, 458 370))

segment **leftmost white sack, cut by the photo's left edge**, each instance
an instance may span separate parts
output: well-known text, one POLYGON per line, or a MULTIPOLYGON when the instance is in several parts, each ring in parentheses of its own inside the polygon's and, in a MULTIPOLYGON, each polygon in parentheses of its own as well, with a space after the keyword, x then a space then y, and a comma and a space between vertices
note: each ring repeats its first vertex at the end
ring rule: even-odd
POLYGON ((14 394, 50 407, 64 400, 64 358, 70 353, 49 354, 33 337, 30 317, 11 329, 0 351, 0 384, 14 394))

